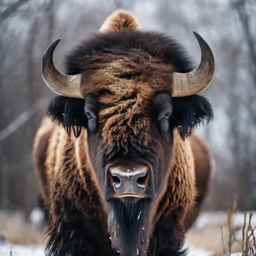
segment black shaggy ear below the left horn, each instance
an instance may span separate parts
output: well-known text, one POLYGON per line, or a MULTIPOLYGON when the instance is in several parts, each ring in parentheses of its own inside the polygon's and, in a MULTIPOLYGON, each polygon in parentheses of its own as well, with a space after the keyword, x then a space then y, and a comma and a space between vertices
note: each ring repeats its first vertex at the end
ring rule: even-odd
POLYGON ((73 131, 77 138, 82 126, 85 127, 87 123, 87 118, 84 116, 84 99, 58 96, 48 105, 47 116, 53 121, 62 123, 69 135, 73 131))

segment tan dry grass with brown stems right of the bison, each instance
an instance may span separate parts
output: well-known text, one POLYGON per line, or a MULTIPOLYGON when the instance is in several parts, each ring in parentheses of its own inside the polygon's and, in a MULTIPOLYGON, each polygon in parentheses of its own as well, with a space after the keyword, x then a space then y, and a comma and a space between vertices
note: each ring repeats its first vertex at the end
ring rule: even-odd
POLYGON ((233 215, 237 212, 237 197, 234 197, 231 210, 227 210, 225 225, 209 225, 202 229, 191 228, 187 233, 187 243, 212 251, 215 256, 229 256, 235 252, 242 252, 243 256, 256 255, 254 235, 256 227, 251 225, 252 214, 249 213, 249 217, 246 218, 245 212, 243 226, 234 227, 233 215), (241 239, 236 238, 237 232, 241 235, 241 239))

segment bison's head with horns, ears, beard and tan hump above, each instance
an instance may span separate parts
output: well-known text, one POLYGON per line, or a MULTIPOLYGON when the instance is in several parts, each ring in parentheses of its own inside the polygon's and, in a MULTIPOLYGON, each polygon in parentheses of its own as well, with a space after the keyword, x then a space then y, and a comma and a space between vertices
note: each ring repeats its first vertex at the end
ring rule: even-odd
POLYGON ((146 253, 171 176, 175 133, 184 140, 212 118, 208 101, 195 94, 210 84, 214 57, 194 34, 202 53, 197 68, 173 39, 141 30, 119 11, 67 56, 67 74, 53 63, 59 39, 42 59, 42 77, 62 95, 48 114, 69 135, 86 130, 87 161, 107 202, 112 245, 122 255, 146 253))

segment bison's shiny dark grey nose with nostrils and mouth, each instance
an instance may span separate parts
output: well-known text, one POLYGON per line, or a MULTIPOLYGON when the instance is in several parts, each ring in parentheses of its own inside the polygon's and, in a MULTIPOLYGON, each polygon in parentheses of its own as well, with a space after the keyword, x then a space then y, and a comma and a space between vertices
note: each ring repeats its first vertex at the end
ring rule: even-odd
POLYGON ((144 198, 149 173, 148 166, 146 165, 139 165, 133 168, 121 166, 110 167, 110 179, 116 197, 144 198))

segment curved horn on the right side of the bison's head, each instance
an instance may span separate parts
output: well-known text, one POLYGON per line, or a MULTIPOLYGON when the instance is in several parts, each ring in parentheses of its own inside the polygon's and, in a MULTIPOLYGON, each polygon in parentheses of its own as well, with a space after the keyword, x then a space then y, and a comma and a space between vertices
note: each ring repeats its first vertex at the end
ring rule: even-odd
POLYGON ((214 55, 206 41, 198 33, 193 33, 201 48, 201 63, 188 73, 173 73, 172 97, 184 97, 202 92, 210 85, 214 76, 214 55))

